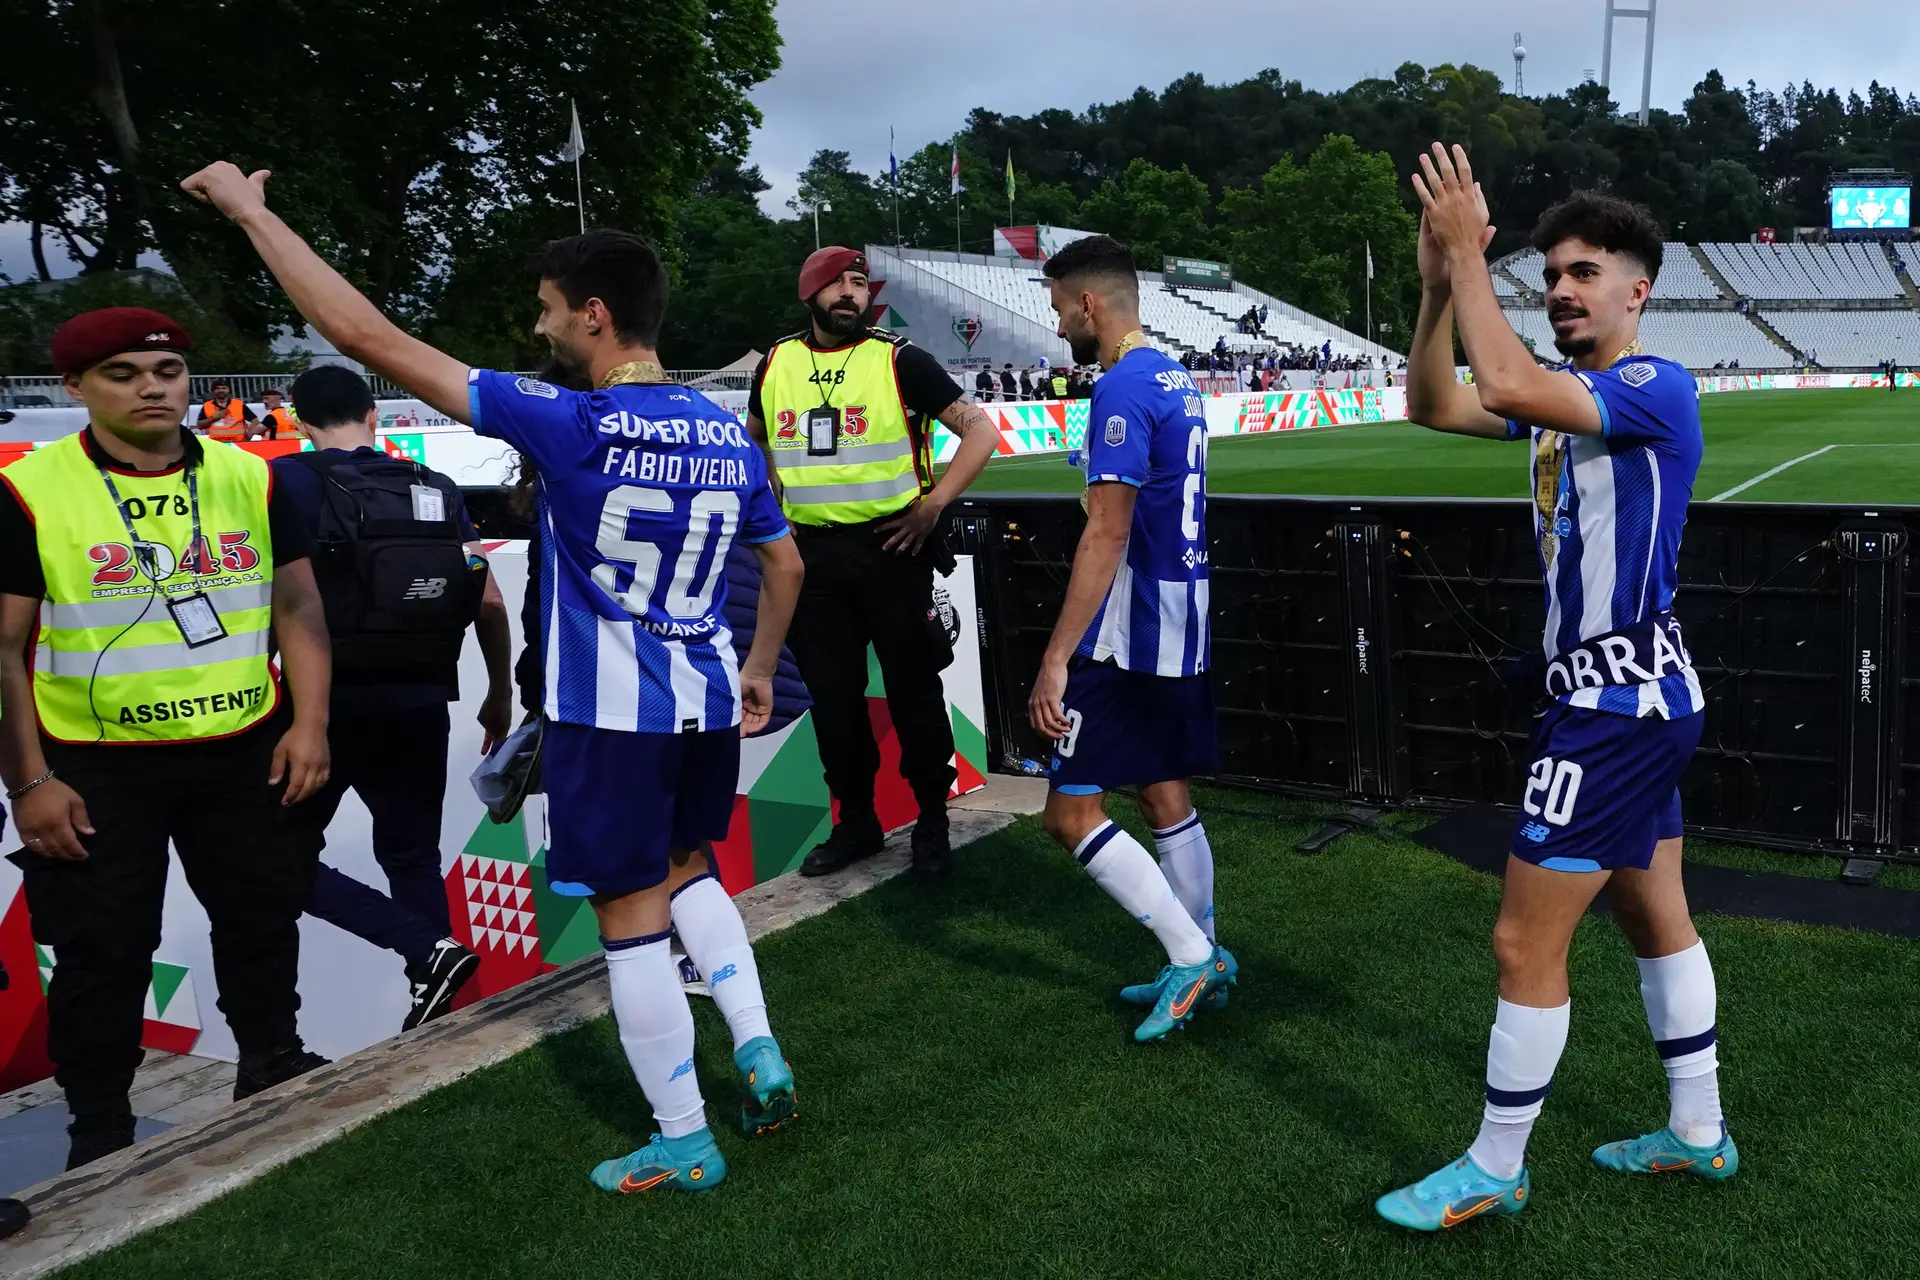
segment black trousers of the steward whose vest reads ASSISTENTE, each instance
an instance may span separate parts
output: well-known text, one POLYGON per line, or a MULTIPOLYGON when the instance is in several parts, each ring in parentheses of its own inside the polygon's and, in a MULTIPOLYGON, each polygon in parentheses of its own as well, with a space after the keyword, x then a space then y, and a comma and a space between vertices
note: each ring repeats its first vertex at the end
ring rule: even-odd
POLYGON ((154 979, 167 844, 213 931, 219 1007, 242 1054, 296 1040, 300 913, 313 887, 282 787, 267 783, 286 722, 177 747, 44 743, 86 802, 84 862, 19 854, 33 936, 54 948, 46 1048, 77 1119, 127 1113, 154 979))

